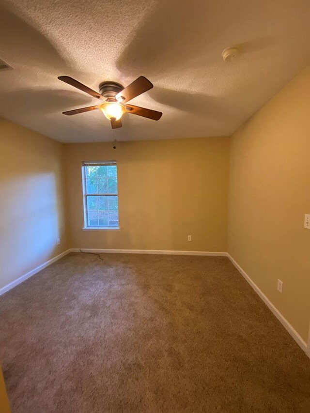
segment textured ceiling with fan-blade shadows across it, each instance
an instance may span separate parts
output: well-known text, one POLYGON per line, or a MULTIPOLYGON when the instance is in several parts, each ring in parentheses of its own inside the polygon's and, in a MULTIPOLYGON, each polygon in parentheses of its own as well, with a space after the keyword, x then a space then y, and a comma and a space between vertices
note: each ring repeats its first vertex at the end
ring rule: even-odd
POLYGON ((1 0, 0 116, 63 142, 230 135, 309 63, 309 21, 309 0, 1 0), (64 116, 97 102, 61 75, 144 75, 154 89, 130 103, 163 116, 114 132, 99 111, 64 116))

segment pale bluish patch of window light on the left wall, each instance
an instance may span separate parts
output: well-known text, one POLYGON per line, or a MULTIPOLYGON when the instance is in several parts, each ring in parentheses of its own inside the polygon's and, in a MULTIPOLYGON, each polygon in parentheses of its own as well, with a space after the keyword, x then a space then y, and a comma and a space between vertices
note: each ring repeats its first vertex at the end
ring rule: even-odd
POLYGON ((1 193, 1 209, 5 217, 0 228, 1 258, 14 260, 15 266, 9 267, 6 274, 11 277, 16 271, 22 273, 25 267, 31 269, 33 261, 48 257, 57 245, 55 175, 19 176, 1 185, 1 193), (14 243, 6 242, 12 240, 12 233, 16 234, 14 243))

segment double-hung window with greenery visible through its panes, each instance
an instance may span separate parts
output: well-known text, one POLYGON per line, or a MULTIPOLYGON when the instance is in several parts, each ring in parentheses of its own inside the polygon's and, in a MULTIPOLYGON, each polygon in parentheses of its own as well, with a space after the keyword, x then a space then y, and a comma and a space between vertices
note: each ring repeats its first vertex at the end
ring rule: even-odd
POLYGON ((85 228, 117 229, 116 162, 83 162, 82 176, 85 228))

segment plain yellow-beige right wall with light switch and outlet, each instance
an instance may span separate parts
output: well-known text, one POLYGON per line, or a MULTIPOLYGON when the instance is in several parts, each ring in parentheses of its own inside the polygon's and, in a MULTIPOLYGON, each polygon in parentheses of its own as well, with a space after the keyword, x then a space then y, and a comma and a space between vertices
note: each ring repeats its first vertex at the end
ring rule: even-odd
POLYGON ((310 68, 232 137, 228 251, 307 342, 310 68), (277 279, 283 293, 277 291, 277 279))

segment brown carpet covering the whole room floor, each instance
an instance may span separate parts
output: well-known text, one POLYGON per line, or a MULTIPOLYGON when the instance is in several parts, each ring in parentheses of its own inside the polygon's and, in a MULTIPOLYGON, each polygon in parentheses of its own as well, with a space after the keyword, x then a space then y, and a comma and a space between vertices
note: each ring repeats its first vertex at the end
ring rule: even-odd
POLYGON ((310 412, 310 360, 227 258, 102 258, 0 297, 13 413, 310 412))

